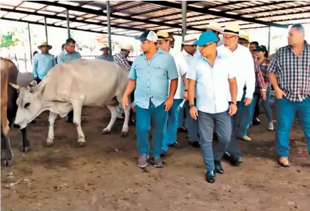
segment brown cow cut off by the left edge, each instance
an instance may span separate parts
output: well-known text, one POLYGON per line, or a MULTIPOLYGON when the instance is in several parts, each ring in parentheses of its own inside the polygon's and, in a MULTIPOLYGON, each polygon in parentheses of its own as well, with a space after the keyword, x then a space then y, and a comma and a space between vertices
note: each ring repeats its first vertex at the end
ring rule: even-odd
MULTIPOLYGON (((17 91, 9 86, 9 83, 16 83, 19 70, 16 65, 7 58, 1 57, 1 165, 13 165, 13 153, 9 140, 9 130, 15 118, 17 105, 17 91)), ((26 128, 21 130, 22 145, 20 150, 28 152, 30 143, 26 136, 26 128)))

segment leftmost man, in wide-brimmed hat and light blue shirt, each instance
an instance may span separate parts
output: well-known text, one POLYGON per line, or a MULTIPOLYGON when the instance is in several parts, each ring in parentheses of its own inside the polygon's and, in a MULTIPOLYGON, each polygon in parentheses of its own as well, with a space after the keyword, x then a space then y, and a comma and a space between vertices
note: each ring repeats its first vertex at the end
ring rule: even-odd
POLYGON ((52 46, 48 45, 47 42, 43 42, 38 46, 41 53, 36 53, 36 56, 33 58, 32 76, 37 83, 40 83, 45 78, 48 71, 50 71, 53 66, 56 66, 54 56, 48 53, 51 48, 52 46))

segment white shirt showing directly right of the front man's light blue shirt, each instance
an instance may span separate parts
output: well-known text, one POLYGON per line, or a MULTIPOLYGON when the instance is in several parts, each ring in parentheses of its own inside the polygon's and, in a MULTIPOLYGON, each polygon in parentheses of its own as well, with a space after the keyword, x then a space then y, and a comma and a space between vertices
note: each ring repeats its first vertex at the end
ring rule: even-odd
POLYGON ((176 51, 175 49, 170 48, 169 53, 175 59, 175 65, 177 66, 177 73, 179 74, 179 78, 177 81, 177 91, 175 91, 175 99, 182 99, 185 91, 182 76, 184 76, 184 74, 187 73, 188 65, 187 62, 185 61, 184 56, 180 51, 176 51))

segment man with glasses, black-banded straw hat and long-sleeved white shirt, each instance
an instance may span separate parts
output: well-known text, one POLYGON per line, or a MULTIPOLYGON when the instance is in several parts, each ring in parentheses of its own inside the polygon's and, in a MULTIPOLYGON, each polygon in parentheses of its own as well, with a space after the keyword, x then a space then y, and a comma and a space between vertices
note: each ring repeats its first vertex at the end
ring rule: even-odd
MULTIPOLYGON (((246 48, 238 44, 239 39, 239 25, 237 23, 229 23, 225 26, 223 34, 224 46, 219 46, 217 50, 221 52, 222 56, 227 56, 232 61, 229 67, 236 68, 236 80, 237 80, 237 101, 238 107, 248 106, 252 102, 253 93, 255 90, 255 73, 254 73, 254 61, 249 48, 246 48), (244 91, 245 87, 247 88, 244 91)), ((242 155, 237 146, 237 140, 235 136, 235 127, 242 119, 242 112, 232 118, 232 139, 227 148, 224 158, 227 158, 232 165, 239 165, 242 163, 242 155)))

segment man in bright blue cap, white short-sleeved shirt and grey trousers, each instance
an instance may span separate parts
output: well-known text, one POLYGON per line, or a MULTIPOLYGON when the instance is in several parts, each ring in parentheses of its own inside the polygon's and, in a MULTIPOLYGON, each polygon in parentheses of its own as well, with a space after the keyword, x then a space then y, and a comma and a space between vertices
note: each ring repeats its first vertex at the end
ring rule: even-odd
POLYGON ((206 179, 213 183, 215 173, 224 173, 220 160, 232 135, 230 118, 237 112, 237 81, 229 68, 229 58, 217 54, 214 32, 205 31, 195 44, 200 48, 200 56, 194 58, 187 73, 190 115, 198 121, 206 179), (219 141, 212 150, 214 128, 219 141))

